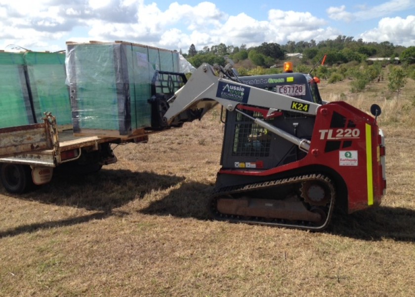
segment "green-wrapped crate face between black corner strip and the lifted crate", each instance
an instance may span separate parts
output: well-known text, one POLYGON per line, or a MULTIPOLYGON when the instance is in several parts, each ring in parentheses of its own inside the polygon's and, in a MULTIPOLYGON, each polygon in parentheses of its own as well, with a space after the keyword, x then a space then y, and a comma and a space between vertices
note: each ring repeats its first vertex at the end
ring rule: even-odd
POLYGON ((56 117, 58 125, 71 125, 69 88, 65 84, 65 54, 27 52, 24 60, 37 122, 42 122, 43 113, 49 111, 56 117))

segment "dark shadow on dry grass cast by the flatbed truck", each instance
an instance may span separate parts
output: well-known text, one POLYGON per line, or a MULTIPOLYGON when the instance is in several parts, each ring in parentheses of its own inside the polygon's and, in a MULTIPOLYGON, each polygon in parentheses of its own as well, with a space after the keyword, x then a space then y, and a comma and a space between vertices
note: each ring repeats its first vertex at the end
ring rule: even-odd
MULTIPOLYGON (((91 175, 67 175, 57 172, 51 183, 23 195, 10 195, 17 199, 38 201, 45 204, 72 206, 97 211, 96 213, 18 226, 0 231, 0 238, 40 229, 70 226, 110 216, 124 216, 128 213, 114 210, 124 204, 143 198, 146 193, 172 187, 185 178, 161 175, 153 172, 132 172, 129 170, 108 170, 91 175)), ((4 191, 4 190, 3 190, 4 191)))

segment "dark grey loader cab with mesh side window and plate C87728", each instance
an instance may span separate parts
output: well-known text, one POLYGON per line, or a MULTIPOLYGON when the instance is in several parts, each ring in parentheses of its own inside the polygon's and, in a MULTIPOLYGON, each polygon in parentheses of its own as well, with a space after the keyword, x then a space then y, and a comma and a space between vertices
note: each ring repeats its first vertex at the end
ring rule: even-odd
MULTIPOLYGON (((318 78, 305 73, 280 73, 239 77, 249 86, 287 95, 293 98, 322 104, 317 87, 318 78)), ((261 108, 244 108, 252 117, 264 119, 261 108)), ((300 139, 311 140, 315 117, 291 111, 275 112, 266 121, 300 139)), ((305 156, 290 141, 273 137, 266 129, 253 123, 241 113, 227 112, 225 137, 222 150, 222 165, 225 168, 247 166, 270 169, 298 161, 305 156)), ((227 181, 228 182, 228 181, 227 181)))

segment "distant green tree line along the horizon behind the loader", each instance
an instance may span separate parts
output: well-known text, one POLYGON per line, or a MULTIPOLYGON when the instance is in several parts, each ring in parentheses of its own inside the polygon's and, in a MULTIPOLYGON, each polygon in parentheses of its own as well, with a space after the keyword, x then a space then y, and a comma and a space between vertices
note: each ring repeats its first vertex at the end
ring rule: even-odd
POLYGON ((268 68, 284 60, 287 53, 301 53, 303 63, 316 63, 324 54, 327 54, 328 65, 351 61, 360 63, 369 57, 391 59, 398 57, 402 62, 415 63, 415 47, 395 46, 387 41, 381 43, 364 42, 362 39, 356 41, 353 37, 341 35, 334 40, 328 39, 318 43, 315 40, 289 41, 286 45, 264 42, 251 48, 247 48, 244 44, 236 47, 221 43, 210 48, 204 47, 202 50, 196 50, 195 45, 192 44, 188 53, 181 53, 195 67, 199 67, 204 62, 224 65, 226 57, 230 57, 234 62, 249 59, 255 66, 268 68))

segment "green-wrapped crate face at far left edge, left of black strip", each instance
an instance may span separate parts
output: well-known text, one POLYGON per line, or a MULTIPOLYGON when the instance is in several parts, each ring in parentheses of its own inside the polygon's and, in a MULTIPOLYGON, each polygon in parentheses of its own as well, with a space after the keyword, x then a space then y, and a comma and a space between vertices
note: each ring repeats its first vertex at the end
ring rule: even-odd
POLYGON ((0 52, 0 128, 34 123, 23 54, 0 52))

